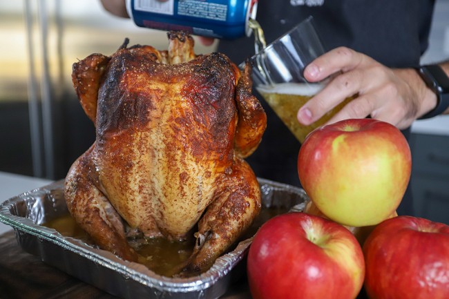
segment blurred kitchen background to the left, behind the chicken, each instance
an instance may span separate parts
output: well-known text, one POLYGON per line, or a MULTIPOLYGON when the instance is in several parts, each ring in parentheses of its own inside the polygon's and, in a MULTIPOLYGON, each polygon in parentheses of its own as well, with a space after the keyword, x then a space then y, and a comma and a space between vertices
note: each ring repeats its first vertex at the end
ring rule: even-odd
MULTIPOLYGON (((166 49, 166 32, 138 28, 99 1, 0 0, 0 171, 64 178, 93 144, 72 86, 72 64, 111 55, 124 38, 166 49)), ((215 46, 197 42, 197 53, 215 46)))

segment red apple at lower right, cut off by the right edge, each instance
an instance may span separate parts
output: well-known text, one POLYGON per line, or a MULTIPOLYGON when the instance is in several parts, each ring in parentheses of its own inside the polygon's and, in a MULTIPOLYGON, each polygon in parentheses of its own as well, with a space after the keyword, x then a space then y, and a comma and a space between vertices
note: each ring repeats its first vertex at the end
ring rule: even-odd
POLYGON ((448 299, 449 226, 399 216, 377 225, 363 244, 371 299, 448 299))

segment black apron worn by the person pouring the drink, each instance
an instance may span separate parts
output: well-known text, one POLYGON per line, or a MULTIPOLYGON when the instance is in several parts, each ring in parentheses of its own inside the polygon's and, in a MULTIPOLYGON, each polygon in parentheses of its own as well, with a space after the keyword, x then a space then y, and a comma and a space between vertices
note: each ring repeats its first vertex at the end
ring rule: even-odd
MULTIPOLYGON (((259 0, 256 19, 269 44, 312 15, 326 50, 347 46, 385 66, 408 68, 419 66, 428 48, 433 8, 434 0, 259 0)), ((254 55, 254 37, 220 41, 218 52, 240 64, 254 55)), ((267 130, 247 162, 258 177, 300 186, 296 168, 300 144, 259 98, 267 113, 267 130)), ((410 129, 403 133, 408 137, 410 129)), ((410 186, 398 213, 414 214, 410 186)))

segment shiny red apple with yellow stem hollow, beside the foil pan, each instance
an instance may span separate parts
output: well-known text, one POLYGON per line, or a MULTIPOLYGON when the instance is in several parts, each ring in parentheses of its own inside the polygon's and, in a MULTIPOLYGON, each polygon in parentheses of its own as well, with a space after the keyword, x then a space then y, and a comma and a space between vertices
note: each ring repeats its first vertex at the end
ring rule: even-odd
POLYGON ((247 260, 254 299, 353 299, 365 275, 363 252, 345 227, 307 213, 278 215, 256 233, 247 260))

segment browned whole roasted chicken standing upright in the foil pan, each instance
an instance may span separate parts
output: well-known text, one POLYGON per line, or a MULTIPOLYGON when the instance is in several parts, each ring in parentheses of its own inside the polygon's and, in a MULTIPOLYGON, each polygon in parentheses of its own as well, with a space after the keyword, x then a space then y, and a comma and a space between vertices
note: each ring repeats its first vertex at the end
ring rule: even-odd
POLYGON ((251 95, 251 69, 220 53, 195 55, 169 32, 169 50, 127 47, 73 64, 73 84, 95 143, 66 177, 76 222, 102 249, 137 261, 128 233, 195 248, 180 268, 204 271, 260 211, 260 187, 243 158, 267 119, 251 95))

